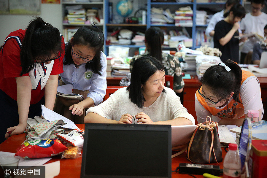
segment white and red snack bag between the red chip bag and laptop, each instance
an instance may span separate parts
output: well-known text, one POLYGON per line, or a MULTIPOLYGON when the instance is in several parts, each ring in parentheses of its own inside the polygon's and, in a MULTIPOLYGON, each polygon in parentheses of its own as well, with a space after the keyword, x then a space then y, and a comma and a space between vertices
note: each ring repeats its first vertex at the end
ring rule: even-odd
POLYGON ((65 142, 72 144, 73 146, 82 146, 83 145, 83 135, 84 130, 77 128, 71 131, 69 134, 56 134, 58 138, 62 139, 65 142))

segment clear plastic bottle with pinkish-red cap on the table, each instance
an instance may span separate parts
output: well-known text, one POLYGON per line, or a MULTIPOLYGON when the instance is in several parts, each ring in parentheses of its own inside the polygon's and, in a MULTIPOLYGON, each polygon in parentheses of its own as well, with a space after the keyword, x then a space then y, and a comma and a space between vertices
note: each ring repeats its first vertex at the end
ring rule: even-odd
POLYGON ((223 161, 223 178, 240 178, 241 160, 237 152, 237 144, 229 144, 229 151, 223 161))

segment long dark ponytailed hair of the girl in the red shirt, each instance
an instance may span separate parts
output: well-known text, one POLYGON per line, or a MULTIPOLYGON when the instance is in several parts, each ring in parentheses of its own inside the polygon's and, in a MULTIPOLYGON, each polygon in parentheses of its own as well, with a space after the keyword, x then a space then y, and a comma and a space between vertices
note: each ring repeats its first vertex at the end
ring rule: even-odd
POLYGON ((21 72, 26 74, 34 68, 36 58, 45 61, 63 52, 61 35, 57 28, 36 17, 28 24, 20 51, 21 72))

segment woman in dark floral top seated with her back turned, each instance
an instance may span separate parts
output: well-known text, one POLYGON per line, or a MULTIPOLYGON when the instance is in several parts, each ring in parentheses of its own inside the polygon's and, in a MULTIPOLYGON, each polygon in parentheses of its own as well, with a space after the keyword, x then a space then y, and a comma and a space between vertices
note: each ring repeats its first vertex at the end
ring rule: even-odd
POLYGON ((145 53, 143 55, 134 56, 130 63, 130 71, 137 58, 142 56, 153 56, 161 61, 165 67, 165 74, 172 75, 174 78, 173 89, 176 93, 181 93, 185 86, 182 79, 182 69, 179 60, 173 55, 162 52, 161 45, 163 45, 164 34, 158 27, 150 27, 145 33, 145 53))

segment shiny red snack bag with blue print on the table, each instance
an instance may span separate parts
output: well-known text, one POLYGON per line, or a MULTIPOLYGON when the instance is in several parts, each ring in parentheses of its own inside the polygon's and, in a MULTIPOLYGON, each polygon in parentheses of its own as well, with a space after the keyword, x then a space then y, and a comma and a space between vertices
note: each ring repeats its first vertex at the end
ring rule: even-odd
POLYGON ((58 139, 26 140, 18 148, 15 156, 22 158, 46 158, 58 155, 67 149, 58 139))

